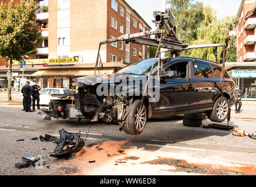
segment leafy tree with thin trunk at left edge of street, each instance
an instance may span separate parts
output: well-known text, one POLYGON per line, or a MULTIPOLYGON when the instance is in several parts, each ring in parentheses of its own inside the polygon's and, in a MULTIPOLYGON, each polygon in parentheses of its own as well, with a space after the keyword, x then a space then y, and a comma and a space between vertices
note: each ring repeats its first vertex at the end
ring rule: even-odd
POLYGON ((9 61, 9 101, 12 100, 12 62, 36 54, 36 48, 42 42, 42 34, 35 25, 35 11, 35 1, 32 0, 21 0, 18 5, 11 0, 8 6, 0 5, 0 57, 9 61))

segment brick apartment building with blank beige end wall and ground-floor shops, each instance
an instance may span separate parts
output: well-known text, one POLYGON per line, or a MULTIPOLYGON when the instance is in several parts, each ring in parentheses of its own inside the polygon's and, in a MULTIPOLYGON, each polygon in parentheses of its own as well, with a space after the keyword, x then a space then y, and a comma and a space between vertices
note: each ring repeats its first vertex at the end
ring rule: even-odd
MULTIPOLYGON (((36 24, 41 26, 44 40, 38 54, 26 61, 23 82, 35 79, 42 88, 74 88, 75 78, 93 75, 100 41, 151 30, 124 0, 49 0, 47 9, 38 7, 36 24)), ((100 58, 102 74, 111 73, 127 63, 150 58, 150 46, 125 41, 105 44, 100 58)), ((18 85, 22 72, 16 64, 14 81, 18 85)), ((0 79, 6 79, 7 70, 0 66, 0 79)))

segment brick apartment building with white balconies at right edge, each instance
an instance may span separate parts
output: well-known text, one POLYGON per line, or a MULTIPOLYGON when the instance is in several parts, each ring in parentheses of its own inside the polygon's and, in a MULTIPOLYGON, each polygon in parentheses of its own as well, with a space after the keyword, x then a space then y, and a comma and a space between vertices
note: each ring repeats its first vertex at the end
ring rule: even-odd
POLYGON ((235 83, 244 93, 243 100, 256 100, 256 1, 242 0, 235 17, 235 30, 228 33, 236 36, 237 62, 226 63, 235 83))

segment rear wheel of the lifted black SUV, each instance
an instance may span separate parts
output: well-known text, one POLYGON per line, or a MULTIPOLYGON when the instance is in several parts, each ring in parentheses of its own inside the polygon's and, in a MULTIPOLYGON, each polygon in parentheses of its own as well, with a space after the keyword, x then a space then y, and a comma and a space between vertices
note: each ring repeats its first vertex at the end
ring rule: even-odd
POLYGON ((228 103, 227 98, 223 97, 222 100, 220 97, 215 101, 213 105, 213 110, 207 113, 207 117, 213 122, 224 122, 224 120, 227 119, 229 109, 230 104, 228 103))

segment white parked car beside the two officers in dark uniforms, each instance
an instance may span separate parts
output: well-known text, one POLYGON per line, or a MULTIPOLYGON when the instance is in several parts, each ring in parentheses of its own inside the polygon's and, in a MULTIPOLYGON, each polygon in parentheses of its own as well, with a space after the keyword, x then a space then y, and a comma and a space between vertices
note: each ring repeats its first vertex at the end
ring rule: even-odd
POLYGON ((44 88, 39 91, 40 93, 40 105, 49 105, 49 102, 51 99, 59 99, 54 96, 51 96, 52 94, 68 94, 71 93, 69 89, 65 88, 44 88))

